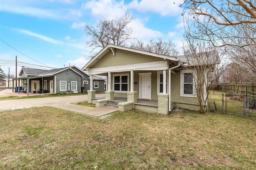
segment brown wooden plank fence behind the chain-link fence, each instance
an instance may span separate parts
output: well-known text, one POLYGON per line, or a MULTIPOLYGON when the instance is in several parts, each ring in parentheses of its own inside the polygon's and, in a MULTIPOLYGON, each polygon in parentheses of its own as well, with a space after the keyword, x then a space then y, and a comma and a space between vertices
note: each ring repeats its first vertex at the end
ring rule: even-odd
POLYGON ((218 90, 256 96, 256 84, 218 84, 218 90))

